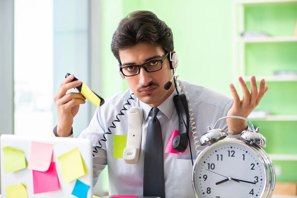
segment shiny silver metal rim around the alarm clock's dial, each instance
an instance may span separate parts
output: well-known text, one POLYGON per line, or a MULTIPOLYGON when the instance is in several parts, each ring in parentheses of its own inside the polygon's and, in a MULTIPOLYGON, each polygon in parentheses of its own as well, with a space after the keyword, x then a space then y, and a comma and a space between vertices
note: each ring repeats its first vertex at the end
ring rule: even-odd
POLYGON ((195 188, 195 167, 197 166, 198 162, 201 160, 201 156, 206 153, 206 151, 208 151, 209 149, 211 149, 214 146, 219 145, 220 143, 226 143, 226 142, 231 142, 231 143, 239 143, 242 144, 244 146, 249 147, 250 149, 252 149, 252 151, 254 151, 254 153, 257 155, 257 157, 260 159, 261 163, 264 165, 264 170, 266 173, 266 181, 265 181, 265 189, 262 192, 262 194, 259 196, 259 198, 271 198, 274 188, 275 188, 275 171, 274 171, 274 166, 272 164, 272 161, 270 159, 270 157, 268 156, 268 154, 261 148, 261 146, 257 145, 256 143, 253 143, 252 141, 243 139, 243 138, 225 138, 222 140, 219 140, 215 143, 212 143, 208 146, 206 146, 206 148, 204 148, 197 156, 197 158, 195 159, 193 168, 192 168, 192 186, 193 186, 193 190, 195 193, 195 197, 196 198, 200 198, 197 195, 197 191, 195 188))

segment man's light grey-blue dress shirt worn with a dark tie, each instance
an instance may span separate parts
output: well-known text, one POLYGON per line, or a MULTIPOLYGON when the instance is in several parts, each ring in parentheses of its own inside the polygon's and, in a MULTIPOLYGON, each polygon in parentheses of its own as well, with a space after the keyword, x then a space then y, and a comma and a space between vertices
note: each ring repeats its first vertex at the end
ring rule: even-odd
MULTIPOLYGON (((178 85, 178 83, 177 83, 178 85)), ((226 116, 229 109, 233 105, 233 99, 227 96, 202 87, 196 84, 183 81, 183 92, 187 92, 188 103, 192 109, 193 126, 196 128, 198 140, 200 136, 208 131, 208 126, 213 127, 215 122, 226 116)), ((174 86, 174 84, 172 85, 174 86)), ((178 91, 181 93, 181 88, 178 86, 178 91)), ((108 132, 108 127, 112 125, 112 121, 116 119, 116 115, 120 113, 123 105, 127 103, 130 97, 131 90, 128 89, 123 93, 105 99, 105 104, 97 108, 95 114, 89 124, 89 127, 81 132, 79 138, 89 138, 93 146, 99 146, 98 140, 103 139, 103 133, 108 132)), ((159 108, 157 118, 162 128, 163 150, 168 143, 170 136, 174 130, 178 130, 178 114, 173 102, 174 92, 163 102, 159 108)), ((135 95, 132 95, 134 100, 129 100, 131 105, 125 105, 127 111, 122 111, 125 115, 119 115, 121 122, 114 122, 116 128, 110 128, 112 134, 105 134, 106 142, 100 141, 102 149, 95 153, 93 157, 94 165, 94 183, 97 178, 108 165, 109 178, 109 194, 110 195, 143 195, 143 162, 144 148, 146 144, 146 130, 152 112, 151 106, 141 102, 135 95), (136 164, 126 164, 123 158, 114 158, 114 135, 127 135, 128 130, 128 111, 133 106, 140 106, 143 109, 143 125, 142 125, 142 140, 140 147, 140 155, 136 164)), ((185 119, 185 118, 184 118, 185 119)), ((221 120, 217 127, 222 130, 227 130, 226 119, 221 120)), ((197 154, 195 144, 190 127, 190 142, 192 149, 192 157, 195 161, 197 154)), ((203 150, 205 147, 198 147, 203 150)), ((171 197, 195 197, 192 187, 192 162, 189 150, 189 144, 186 151, 182 154, 164 153, 164 177, 165 177, 165 195, 171 197)))

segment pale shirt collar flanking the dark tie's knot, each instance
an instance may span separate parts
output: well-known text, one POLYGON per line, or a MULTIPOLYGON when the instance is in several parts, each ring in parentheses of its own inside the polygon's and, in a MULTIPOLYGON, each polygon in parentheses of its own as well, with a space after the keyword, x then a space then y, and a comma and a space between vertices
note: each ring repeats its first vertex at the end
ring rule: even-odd
MULTIPOLYGON (((178 92, 181 93, 180 87, 178 87, 178 92)), ((157 106, 159 110, 162 111, 162 113, 168 117, 168 119, 170 119, 175 109, 175 104, 173 102, 173 96, 175 95, 177 95, 177 93, 176 93, 176 90, 174 89, 172 94, 164 102, 162 102, 161 104, 159 104, 159 106, 157 106)), ((140 104, 140 107, 143 109, 143 118, 146 121, 152 106, 150 106, 149 104, 143 103, 141 100, 139 100, 139 104, 140 104)))

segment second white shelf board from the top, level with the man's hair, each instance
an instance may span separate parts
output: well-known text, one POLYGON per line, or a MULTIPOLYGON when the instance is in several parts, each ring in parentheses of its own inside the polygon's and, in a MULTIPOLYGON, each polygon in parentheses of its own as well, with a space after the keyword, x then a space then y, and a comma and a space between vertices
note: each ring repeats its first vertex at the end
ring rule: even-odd
MULTIPOLYGON (((297 1, 296 1, 297 2, 297 1)), ((258 37, 238 37, 238 42, 242 43, 268 43, 268 42, 297 42, 297 37, 273 37, 273 36, 258 36, 258 37)))

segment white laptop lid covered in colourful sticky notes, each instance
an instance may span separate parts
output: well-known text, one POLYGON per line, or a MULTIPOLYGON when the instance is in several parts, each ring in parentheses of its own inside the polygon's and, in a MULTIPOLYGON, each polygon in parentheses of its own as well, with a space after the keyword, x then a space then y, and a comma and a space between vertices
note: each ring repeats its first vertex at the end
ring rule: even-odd
POLYGON ((3 134, 0 147, 2 198, 15 192, 30 198, 92 198, 89 139, 3 134))

